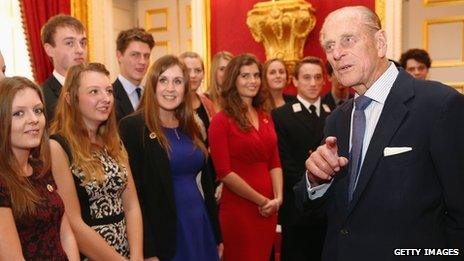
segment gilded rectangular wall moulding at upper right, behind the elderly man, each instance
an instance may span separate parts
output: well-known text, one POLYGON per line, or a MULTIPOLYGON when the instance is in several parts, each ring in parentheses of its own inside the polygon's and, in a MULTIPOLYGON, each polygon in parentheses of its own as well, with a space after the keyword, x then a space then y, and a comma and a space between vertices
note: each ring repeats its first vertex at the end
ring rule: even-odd
POLYGON ((453 67, 464 66, 464 16, 452 16, 427 19, 422 27, 422 46, 424 50, 429 50, 429 26, 432 24, 461 23, 462 24, 462 42, 461 42, 461 59, 460 60, 436 60, 432 61, 432 67, 453 67))

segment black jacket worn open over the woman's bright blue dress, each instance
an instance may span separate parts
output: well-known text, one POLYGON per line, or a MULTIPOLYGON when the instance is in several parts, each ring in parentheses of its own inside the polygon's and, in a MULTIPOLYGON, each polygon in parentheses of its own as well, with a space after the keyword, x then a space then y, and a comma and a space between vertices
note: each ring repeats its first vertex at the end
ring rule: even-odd
MULTIPOLYGON (((143 214, 144 256, 171 259, 176 251, 177 218, 168 155, 158 139, 150 138, 140 114, 121 120, 120 132, 143 214)), ((202 179, 211 178, 210 168, 205 163, 202 179)), ((214 188, 208 184, 213 182, 202 180, 205 204, 217 242, 221 242, 214 188)))

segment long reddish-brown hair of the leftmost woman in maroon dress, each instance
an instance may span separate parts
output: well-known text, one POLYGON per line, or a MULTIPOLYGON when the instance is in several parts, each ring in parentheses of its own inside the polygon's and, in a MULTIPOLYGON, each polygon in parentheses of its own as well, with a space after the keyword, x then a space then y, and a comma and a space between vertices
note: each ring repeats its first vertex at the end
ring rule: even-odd
MULTIPOLYGON (((6 185, 11 197, 11 208, 16 218, 22 218, 35 213, 40 197, 24 176, 18 161, 12 150, 11 121, 13 99, 20 90, 31 88, 40 97, 44 104, 44 98, 40 88, 32 81, 24 77, 8 77, 0 81, 0 179, 6 185)), ((45 115, 44 115, 45 117, 45 115)), ((44 129, 40 145, 31 149, 29 162, 33 166, 39 166, 34 171, 39 176, 50 170, 50 147, 48 134, 44 129)))

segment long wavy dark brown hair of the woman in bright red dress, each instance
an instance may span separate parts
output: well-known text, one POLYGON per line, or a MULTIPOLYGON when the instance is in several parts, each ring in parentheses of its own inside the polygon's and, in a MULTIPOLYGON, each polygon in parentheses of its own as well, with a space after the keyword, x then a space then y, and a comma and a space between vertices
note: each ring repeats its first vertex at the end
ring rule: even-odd
MULTIPOLYGON (((243 66, 252 64, 256 64, 258 66, 261 77, 263 69, 254 55, 242 54, 232 58, 226 67, 225 80, 221 93, 221 103, 225 113, 232 117, 240 129, 244 131, 251 129, 251 123, 246 116, 248 109, 238 93, 236 82, 240 75, 240 69, 243 66)), ((258 94, 253 97, 252 106, 259 111, 269 113, 269 91, 260 87, 258 94)))

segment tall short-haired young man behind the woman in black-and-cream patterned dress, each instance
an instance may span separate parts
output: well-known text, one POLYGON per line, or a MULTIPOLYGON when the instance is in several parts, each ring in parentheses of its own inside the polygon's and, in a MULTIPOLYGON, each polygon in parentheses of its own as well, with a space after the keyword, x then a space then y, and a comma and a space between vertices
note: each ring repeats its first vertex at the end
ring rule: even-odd
POLYGON ((54 68, 52 75, 42 85, 47 122, 50 122, 68 68, 87 61, 87 37, 84 25, 79 20, 69 15, 56 15, 42 27, 41 38, 54 68))

